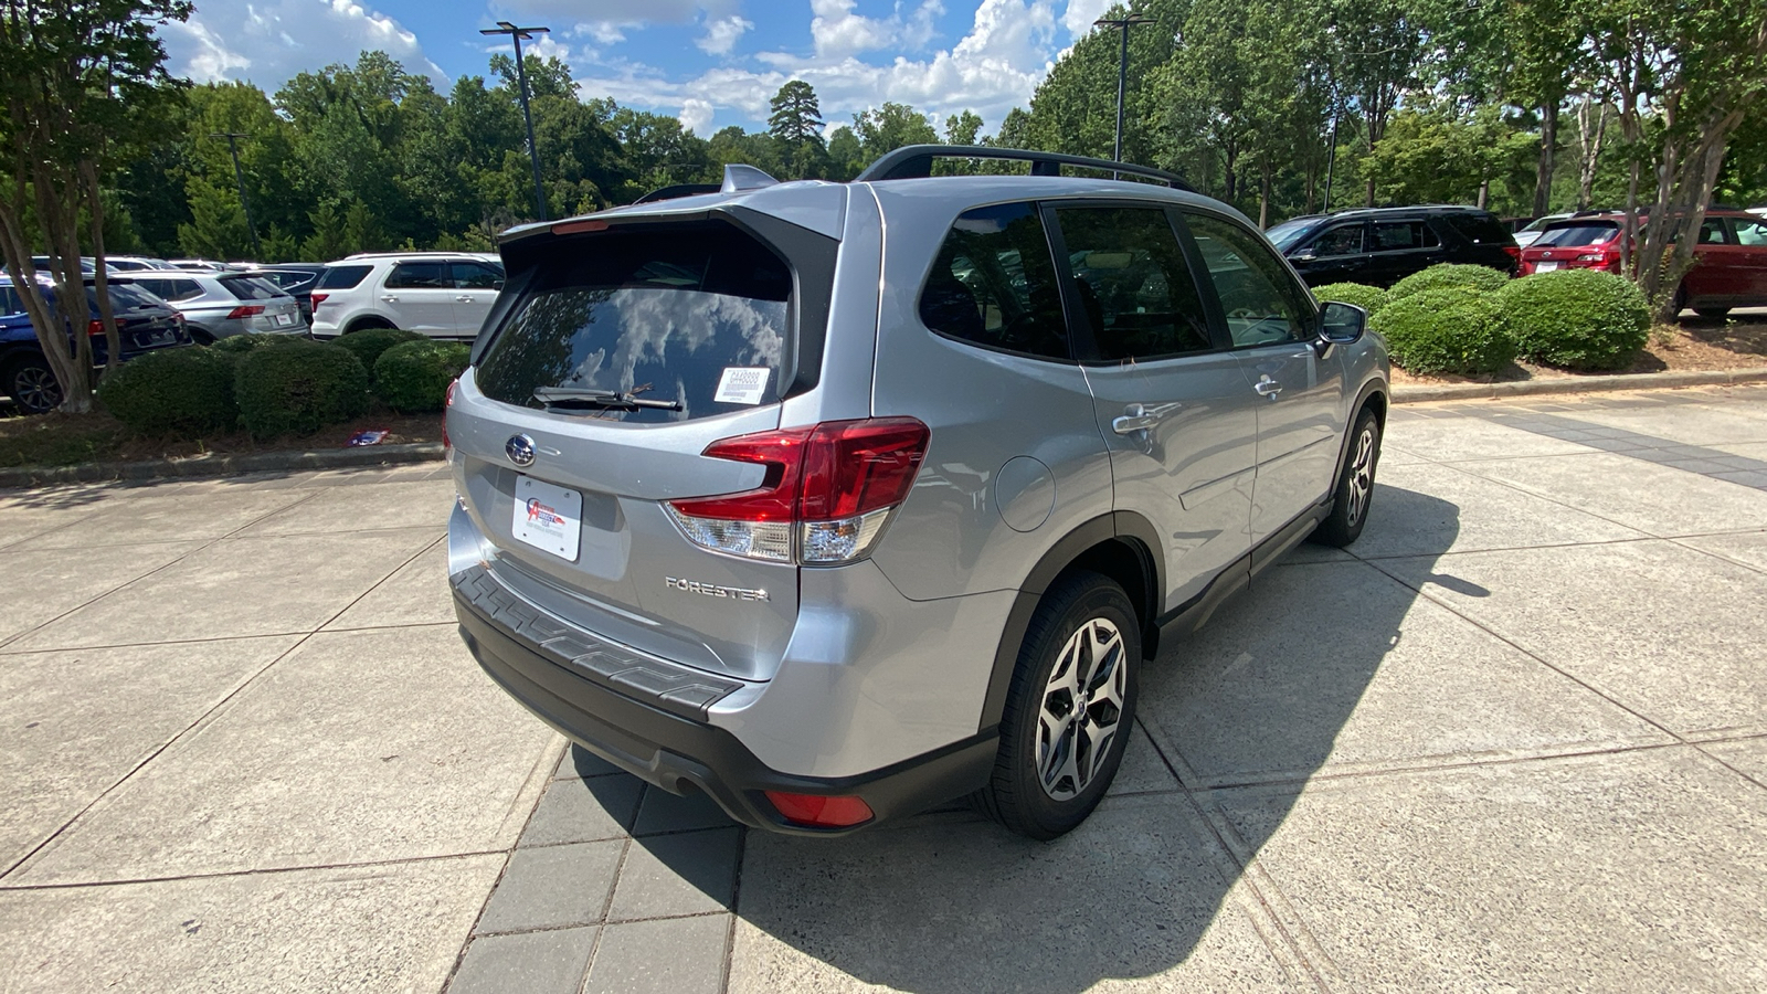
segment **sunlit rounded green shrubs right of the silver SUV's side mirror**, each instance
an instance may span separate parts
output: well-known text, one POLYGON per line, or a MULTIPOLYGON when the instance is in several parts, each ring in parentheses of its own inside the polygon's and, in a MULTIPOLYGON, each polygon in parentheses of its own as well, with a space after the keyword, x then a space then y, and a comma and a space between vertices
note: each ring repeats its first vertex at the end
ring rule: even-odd
POLYGON ((1495 373, 1521 357, 1567 370, 1620 370, 1650 334, 1627 279, 1560 269, 1511 279, 1483 265, 1431 265, 1392 290, 1331 283, 1313 294, 1366 310, 1392 363, 1412 373, 1495 373))

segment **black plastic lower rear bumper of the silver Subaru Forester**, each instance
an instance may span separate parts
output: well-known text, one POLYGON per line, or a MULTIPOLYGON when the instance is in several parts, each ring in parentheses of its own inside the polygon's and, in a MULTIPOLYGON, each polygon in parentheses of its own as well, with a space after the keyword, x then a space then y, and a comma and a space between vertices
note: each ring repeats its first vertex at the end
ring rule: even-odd
POLYGON ((604 677, 580 676, 571 660, 514 631, 509 617, 493 617, 497 612, 472 596, 470 573, 454 577, 454 612, 461 638, 493 681, 588 752, 664 791, 703 792, 742 824, 795 835, 845 835, 967 794, 981 787, 993 768, 998 741, 990 732, 857 776, 770 769, 733 734, 691 716, 694 688, 657 692, 647 681, 629 681, 622 693, 604 677), (875 817, 845 830, 795 826, 774 810, 763 791, 859 796, 875 817))

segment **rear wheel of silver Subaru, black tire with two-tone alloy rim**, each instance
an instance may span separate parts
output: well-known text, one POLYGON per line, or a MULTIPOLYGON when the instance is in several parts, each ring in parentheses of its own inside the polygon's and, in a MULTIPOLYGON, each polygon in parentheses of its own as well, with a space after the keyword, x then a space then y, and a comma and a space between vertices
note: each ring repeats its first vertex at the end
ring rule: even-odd
POLYGON ((1057 580, 1025 630, 1000 716, 1000 752, 993 776, 974 798, 975 807, 1005 828, 1043 840, 1085 821, 1122 764, 1134 727, 1140 665, 1141 628, 1122 587, 1092 571, 1057 580), (1104 638, 1104 653, 1094 658, 1092 647, 1099 646, 1099 638, 1104 638), (1074 651, 1064 653, 1076 640, 1074 651), (1058 669, 1069 677, 1088 670, 1081 677, 1087 686, 1080 688, 1073 679, 1071 688, 1051 690, 1058 669), (1074 699, 1076 688, 1080 700, 1074 699), (1050 753, 1041 748, 1050 739, 1044 706, 1060 713, 1064 693, 1067 722, 1050 753), (1078 715, 1083 718, 1074 720, 1078 715), (1108 720, 1110 730, 1099 734, 1108 720), (1094 734, 1097 739, 1090 738, 1094 734), (1066 757, 1074 759, 1073 768, 1060 762, 1066 757), (1087 766, 1090 776, 1083 773, 1087 766), (1050 776, 1043 775, 1044 769, 1050 776), (1076 776, 1080 782, 1074 782, 1076 776), (1044 787, 1046 780, 1053 782, 1053 789, 1044 787))

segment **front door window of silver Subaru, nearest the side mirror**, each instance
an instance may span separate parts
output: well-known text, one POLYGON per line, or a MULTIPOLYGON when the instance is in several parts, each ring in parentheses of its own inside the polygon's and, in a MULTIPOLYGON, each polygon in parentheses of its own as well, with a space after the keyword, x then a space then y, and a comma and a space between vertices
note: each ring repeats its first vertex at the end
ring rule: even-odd
POLYGON ((1313 308, 1283 260, 1226 221, 1186 214, 1184 223, 1221 299, 1235 348, 1308 341, 1313 308))

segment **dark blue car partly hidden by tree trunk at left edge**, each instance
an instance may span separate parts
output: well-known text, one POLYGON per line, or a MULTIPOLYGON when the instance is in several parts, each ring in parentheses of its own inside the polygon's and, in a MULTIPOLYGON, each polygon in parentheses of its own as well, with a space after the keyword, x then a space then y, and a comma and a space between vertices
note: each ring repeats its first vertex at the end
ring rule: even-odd
MULTIPOLYGON (((41 287, 53 302, 55 288, 46 283, 41 287)), ((115 276, 110 279, 110 297, 117 331, 122 334, 122 359, 125 363, 155 348, 191 345, 184 317, 159 297, 115 276)), ((106 359, 104 329, 99 324, 97 287, 90 281, 87 283, 87 308, 92 356, 95 363, 102 364, 106 359)), ((32 327, 25 302, 7 276, 0 276, 0 394, 11 396, 12 403, 25 414, 42 414, 62 403, 62 386, 55 382, 49 359, 44 357, 42 345, 37 341, 37 329, 32 327)))

